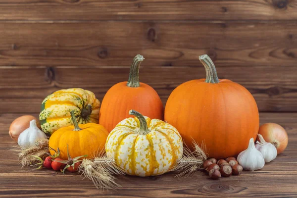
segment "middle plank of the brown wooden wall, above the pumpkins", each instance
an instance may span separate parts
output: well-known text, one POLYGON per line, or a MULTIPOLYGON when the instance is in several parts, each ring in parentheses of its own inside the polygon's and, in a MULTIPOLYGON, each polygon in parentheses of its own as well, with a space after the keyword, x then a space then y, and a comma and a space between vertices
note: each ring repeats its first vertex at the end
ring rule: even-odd
MULTIPOLYGON (((297 12, 296 12, 297 13, 297 12)), ((145 56, 150 66, 296 66, 297 21, 0 22, 2 66, 124 66, 145 56)))

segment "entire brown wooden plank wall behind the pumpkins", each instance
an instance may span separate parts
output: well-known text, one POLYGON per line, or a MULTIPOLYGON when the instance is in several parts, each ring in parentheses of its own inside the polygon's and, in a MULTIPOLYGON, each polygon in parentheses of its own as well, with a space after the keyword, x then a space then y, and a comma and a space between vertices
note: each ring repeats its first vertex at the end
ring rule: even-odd
POLYGON ((71 87, 101 100, 138 53, 164 105, 205 76, 207 53, 260 111, 297 111, 295 0, 0 0, 0 113, 38 113, 71 87))

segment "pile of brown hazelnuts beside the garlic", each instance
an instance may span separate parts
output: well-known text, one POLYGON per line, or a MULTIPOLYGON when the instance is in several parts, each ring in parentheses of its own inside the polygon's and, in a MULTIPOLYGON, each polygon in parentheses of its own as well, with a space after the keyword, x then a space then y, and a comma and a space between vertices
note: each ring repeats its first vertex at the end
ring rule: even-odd
POLYGON ((229 177, 230 175, 239 175, 243 171, 243 167, 238 164, 235 157, 216 160, 215 158, 207 159, 203 162, 203 168, 208 171, 211 179, 219 179, 220 177, 229 177))

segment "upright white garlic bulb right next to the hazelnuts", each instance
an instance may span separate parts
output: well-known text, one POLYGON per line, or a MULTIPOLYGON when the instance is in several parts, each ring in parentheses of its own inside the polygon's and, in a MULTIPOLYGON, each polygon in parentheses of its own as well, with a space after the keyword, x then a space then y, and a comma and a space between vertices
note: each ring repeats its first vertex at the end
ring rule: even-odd
POLYGON ((262 153, 255 148, 254 140, 251 138, 246 150, 239 153, 237 161, 245 170, 258 170, 264 167, 265 161, 262 153))

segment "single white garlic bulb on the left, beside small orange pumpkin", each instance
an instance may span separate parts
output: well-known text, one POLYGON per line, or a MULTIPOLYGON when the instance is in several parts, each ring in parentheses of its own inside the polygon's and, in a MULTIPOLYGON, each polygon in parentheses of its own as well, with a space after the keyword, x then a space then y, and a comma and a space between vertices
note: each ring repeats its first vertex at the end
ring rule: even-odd
POLYGON ((30 126, 25 129, 18 137, 17 144, 23 148, 34 146, 39 139, 47 139, 47 136, 36 125, 35 120, 30 121, 30 126))

